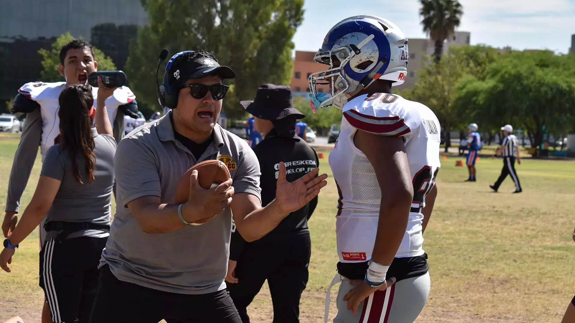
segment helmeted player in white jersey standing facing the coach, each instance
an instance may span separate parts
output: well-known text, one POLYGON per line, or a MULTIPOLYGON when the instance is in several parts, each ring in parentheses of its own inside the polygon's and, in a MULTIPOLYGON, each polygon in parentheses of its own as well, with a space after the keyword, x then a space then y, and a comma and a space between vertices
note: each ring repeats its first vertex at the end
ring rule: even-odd
MULTIPOLYGON (((315 55, 329 68, 309 76, 312 109, 343 110, 329 154, 339 192, 333 322, 413 322, 429 294, 422 243, 437 194, 440 126, 427 106, 391 94, 408 59, 396 25, 355 16, 329 30, 315 55), (331 95, 317 84, 331 85, 331 95)), ((329 290, 326 322, 328 312, 329 290)))

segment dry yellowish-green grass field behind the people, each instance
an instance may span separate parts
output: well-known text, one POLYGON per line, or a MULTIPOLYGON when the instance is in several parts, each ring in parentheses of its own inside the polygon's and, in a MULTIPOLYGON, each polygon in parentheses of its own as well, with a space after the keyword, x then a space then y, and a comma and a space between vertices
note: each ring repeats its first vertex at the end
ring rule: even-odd
MULTIPOLYGON (((0 202, 6 199, 17 137, 0 138, 0 202)), ((327 154, 326 154, 327 158, 327 154)), ((429 255, 430 298, 417 322, 559 322, 575 293, 575 162, 524 160, 517 166, 524 193, 511 194, 508 178, 500 193, 488 184, 499 176, 500 159, 481 158, 478 182, 464 183, 461 157, 442 161, 439 197, 425 232, 429 255)), ((39 176, 36 161, 22 205, 39 176)), ((327 159, 321 171, 331 175, 327 159)), ((312 260, 301 301, 301 322, 322 322, 326 288, 338 261, 335 249, 337 191, 331 176, 320 194, 309 227, 312 260)), ((22 209, 23 210, 23 209, 22 209)), ((0 272, 0 321, 20 314, 39 322, 43 293, 38 287, 38 237, 34 232, 18 249, 13 272, 0 272)), ((336 292, 334 287, 333 294, 336 292)), ((331 316, 335 314, 332 303, 331 316)), ((250 307, 252 322, 271 322, 269 291, 250 307)))

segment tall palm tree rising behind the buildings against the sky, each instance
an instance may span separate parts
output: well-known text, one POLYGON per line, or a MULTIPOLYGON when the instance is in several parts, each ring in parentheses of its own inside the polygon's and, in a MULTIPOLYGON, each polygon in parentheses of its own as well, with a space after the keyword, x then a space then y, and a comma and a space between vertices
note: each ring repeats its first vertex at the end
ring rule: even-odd
POLYGON ((438 62, 443 52, 443 42, 455 32, 461 24, 463 7, 457 0, 419 0, 419 15, 423 18, 423 31, 435 41, 434 57, 438 62))

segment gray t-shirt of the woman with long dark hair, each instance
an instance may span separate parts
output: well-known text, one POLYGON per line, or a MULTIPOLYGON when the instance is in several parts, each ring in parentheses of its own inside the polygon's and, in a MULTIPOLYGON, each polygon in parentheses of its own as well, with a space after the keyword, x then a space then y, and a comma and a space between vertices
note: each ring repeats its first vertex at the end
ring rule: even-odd
MULTIPOLYGON (((46 222, 110 224, 116 141, 108 134, 98 134, 96 128, 92 128, 92 134, 94 136, 96 163, 93 173, 94 181, 91 184, 89 184, 90 178, 86 172, 84 157, 78 157, 77 161, 78 171, 83 182, 81 184, 76 181, 72 173, 72 161, 68 151, 56 144, 46 152, 40 175, 62 181, 52 202, 52 208, 48 212, 46 222)), ((48 232, 47 239, 50 239, 53 233, 57 232, 48 232)), ((86 236, 106 237, 108 234, 102 230, 79 230, 71 233, 67 239, 86 236)))

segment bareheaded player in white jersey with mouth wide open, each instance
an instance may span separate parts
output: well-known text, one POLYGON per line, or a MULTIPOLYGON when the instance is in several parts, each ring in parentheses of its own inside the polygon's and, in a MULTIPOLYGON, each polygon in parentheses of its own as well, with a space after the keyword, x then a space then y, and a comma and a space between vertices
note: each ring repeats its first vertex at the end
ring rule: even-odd
MULTIPOLYGON (((44 83, 30 82, 18 90, 14 98, 13 112, 26 113, 26 122, 22 129, 20 144, 14 155, 8 193, 6 210, 2 222, 2 232, 5 237, 16 228, 17 213, 20 208, 20 198, 30 172, 34 166, 38 147, 42 160, 44 153, 52 147, 60 133, 58 118, 58 97, 68 84, 87 84, 88 75, 97 70, 98 63, 94 60, 94 52, 89 43, 83 40, 72 40, 60 50, 59 71, 66 82, 44 83)), ((92 89, 94 106, 97 106, 98 88, 92 89)), ((124 137, 124 114, 137 118, 137 103, 135 95, 128 87, 119 87, 112 96, 106 99, 106 109, 114 129, 114 138, 119 141, 124 137), (122 113, 118 113, 120 110, 122 113)), ((44 220, 40 224, 40 248, 45 237, 44 220)), ((44 306, 44 312, 48 307, 44 306)), ((46 313, 43 312, 43 321, 46 313)))

